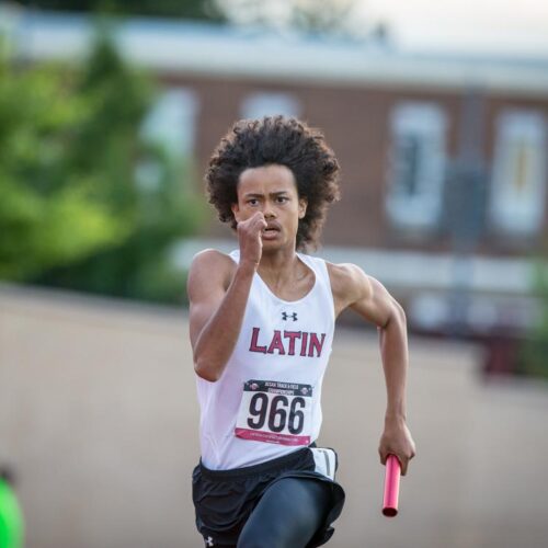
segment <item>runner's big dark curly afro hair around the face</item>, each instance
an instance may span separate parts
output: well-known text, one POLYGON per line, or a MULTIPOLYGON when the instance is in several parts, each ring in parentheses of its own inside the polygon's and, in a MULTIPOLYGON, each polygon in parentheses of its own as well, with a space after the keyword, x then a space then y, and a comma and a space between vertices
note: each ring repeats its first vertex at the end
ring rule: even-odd
POLYGON ((316 247, 329 204, 340 197, 339 162, 323 134, 296 118, 266 116, 237 122, 213 153, 205 180, 219 219, 236 229, 231 206, 238 202, 240 174, 248 168, 289 168, 307 212, 299 220, 297 249, 316 247))

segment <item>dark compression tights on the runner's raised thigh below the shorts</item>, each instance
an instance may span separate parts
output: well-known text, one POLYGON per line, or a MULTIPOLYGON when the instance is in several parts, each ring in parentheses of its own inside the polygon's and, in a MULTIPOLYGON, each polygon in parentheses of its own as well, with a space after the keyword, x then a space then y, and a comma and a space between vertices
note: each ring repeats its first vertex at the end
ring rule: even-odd
POLYGON ((330 499, 331 489, 322 481, 276 481, 249 516, 237 548, 305 548, 322 525, 330 499))

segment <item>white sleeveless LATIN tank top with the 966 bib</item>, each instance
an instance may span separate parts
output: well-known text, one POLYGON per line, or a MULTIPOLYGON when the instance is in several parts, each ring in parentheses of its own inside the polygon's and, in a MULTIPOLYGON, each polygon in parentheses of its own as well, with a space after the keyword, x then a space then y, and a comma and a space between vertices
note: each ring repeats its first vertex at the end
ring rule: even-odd
MULTIPOLYGON (((239 251, 230 256, 239 262, 239 251)), ((281 457, 318 437, 321 386, 334 306, 326 262, 297 254, 313 272, 299 300, 276 297, 255 273, 235 351, 216 383, 197 378, 203 464, 213 470, 281 457)))

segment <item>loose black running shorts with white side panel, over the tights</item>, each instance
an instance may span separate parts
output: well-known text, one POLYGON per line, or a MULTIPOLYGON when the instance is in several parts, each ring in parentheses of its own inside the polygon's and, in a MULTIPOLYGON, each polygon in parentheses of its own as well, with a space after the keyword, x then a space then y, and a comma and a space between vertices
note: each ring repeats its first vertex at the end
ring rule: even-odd
POLYGON ((339 517, 344 505, 344 491, 334 481, 335 470, 334 450, 312 447, 304 447, 260 465, 231 470, 209 470, 199 463, 192 475, 196 527, 206 545, 210 537, 215 546, 236 546, 251 512, 270 486, 282 478, 309 478, 331 486, 331 509, 307 548, 321 546, 333 535, 331 524, 339 517), (334 458, 329 459, 328 455, 334 458), (322 466, 323 461, 326 465, 322 466))

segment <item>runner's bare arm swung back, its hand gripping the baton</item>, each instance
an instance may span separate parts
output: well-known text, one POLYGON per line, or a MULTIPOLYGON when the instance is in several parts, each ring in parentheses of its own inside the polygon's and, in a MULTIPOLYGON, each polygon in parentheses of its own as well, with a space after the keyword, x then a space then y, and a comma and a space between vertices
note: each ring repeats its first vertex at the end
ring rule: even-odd
POLYGON ((336 312, 351 308, 375 323, 379 333, 380 356, 385 372, 387 408, 379 444, 383 465, 388 455, 401 463, 407 473, 415 455, 414 442, 407 426, 406 381, 409 365, 406 313, 377 279, 353 264, 330 265, 336 312))

